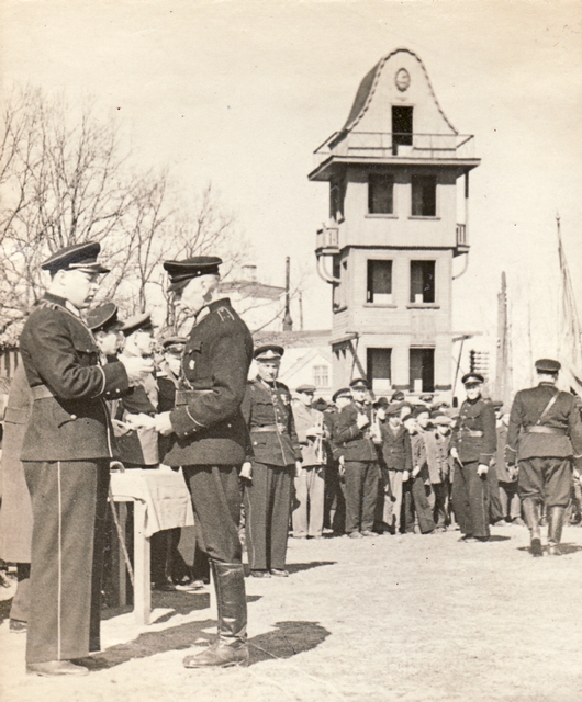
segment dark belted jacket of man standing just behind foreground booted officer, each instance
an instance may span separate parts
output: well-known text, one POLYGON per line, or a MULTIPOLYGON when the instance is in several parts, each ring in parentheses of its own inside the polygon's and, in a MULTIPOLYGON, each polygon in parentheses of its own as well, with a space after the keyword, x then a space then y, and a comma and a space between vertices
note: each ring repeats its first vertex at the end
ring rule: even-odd
POLYGON ((301 444, 287 385, 275 381, 271 386, 260 378, 249 383, 243 401, 243 416, 250 431, 248 460, 278 466, 301 461, 301 444))

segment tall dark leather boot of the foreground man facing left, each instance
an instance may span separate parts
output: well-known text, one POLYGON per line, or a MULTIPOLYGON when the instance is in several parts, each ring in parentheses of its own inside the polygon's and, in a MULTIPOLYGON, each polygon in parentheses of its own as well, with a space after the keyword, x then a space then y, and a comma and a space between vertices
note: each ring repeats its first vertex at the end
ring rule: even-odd
POLYGON ((219 641, 183 659, 186 668, 227 668, 248 664, 245 571, 240 563, 210 562, 219 610, 219 641))

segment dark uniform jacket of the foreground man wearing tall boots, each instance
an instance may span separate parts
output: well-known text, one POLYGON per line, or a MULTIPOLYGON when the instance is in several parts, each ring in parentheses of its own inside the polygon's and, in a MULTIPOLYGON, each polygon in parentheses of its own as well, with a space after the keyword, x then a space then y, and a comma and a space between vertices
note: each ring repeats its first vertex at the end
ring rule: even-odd
POLYGON ((217 299, 188 338, 180 389, 170 412, 174 442, 170 466, 240 465, 248 430, 240 412, 253 359, 250 332, 231 306, 217 299))

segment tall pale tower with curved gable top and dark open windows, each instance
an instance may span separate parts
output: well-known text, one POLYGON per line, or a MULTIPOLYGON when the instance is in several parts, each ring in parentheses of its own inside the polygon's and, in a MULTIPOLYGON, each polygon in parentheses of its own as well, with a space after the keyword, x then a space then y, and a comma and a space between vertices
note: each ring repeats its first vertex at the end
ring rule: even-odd
POLYGON ((329 183, 318 272, 334 287, 333 376, 374 393, 448 395, 454 259, 469 251, 472 135, 443 112, 421 59, 383 57, 344 127, 316 151, 310 180, 329 183))

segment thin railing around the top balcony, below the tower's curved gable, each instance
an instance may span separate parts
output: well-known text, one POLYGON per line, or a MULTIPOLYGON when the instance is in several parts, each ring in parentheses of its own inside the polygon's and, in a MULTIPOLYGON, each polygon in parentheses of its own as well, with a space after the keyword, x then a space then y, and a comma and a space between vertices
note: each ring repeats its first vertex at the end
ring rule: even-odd
POLYGON ((336 132, 315 150, 317 168, 331 156, 363 159, 474 159, 472 134, 336 132))

